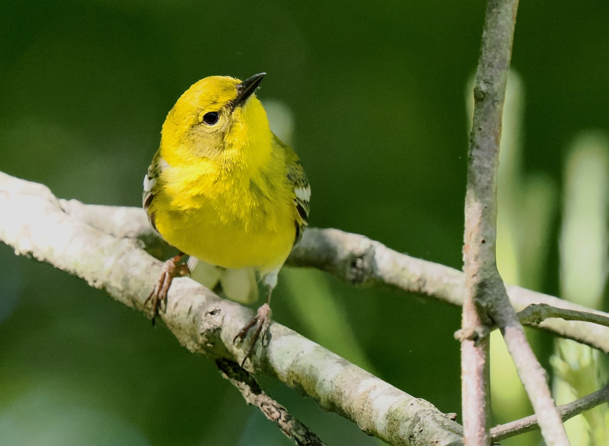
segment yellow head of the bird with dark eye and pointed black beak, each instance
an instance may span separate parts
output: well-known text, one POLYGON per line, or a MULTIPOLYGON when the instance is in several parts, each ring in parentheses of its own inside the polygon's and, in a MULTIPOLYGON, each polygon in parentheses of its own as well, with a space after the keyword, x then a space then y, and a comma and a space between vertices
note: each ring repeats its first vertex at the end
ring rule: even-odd
MULTIPOLYGON (((269 120, 254 92, 266 73, 247 80, 209 76, 192 85, 167 114, 161 149, 181 158, 239 155, 253 144, 269 144, 269 120)), ((164 153, 164 158, 171 154, 164 153)), ((169 161, 169 159, 167 159, 169 161)))

